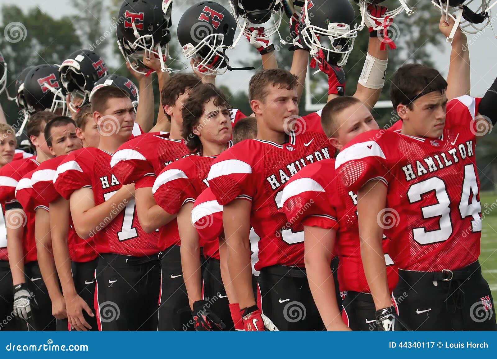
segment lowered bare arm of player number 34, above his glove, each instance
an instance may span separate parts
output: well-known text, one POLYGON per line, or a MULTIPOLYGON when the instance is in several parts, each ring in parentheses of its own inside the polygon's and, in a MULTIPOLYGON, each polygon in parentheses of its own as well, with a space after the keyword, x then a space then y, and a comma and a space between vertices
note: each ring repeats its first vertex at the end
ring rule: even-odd
POLYGON ((380 181, 366 183, 357 194, 361 257, 376 310, 392 305, 381 244, 383 228, 377 220, 378 213, 385 209, 386 201, 387 187, 380 181))

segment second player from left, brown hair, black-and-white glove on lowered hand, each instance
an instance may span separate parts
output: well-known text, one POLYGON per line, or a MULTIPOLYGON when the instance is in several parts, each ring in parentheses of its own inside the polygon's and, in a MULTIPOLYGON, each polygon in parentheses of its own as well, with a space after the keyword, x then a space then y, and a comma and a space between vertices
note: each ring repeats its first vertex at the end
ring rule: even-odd
POLYGON ((37 263, 34 214, 22 210, 15 199, 15 188, 25 174, 53 157, 43 130, 55 117, 56 114, 48 111, 35 113, 28 122, 26 131, 30 143, 36 149, 36 157, 11 162, 0 170, 0 202, 5 206, 8 261, 14 285, 14 314, 20 320, 28 322, 29 330, 36 331, 55 330, 55 318, 52 316, 52 304, 37 263))

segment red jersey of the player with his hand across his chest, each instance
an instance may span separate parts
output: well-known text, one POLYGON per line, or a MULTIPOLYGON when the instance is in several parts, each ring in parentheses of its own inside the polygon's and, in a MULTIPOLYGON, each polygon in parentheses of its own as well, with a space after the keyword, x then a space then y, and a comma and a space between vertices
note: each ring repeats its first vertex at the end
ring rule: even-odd
MULTIPOLYGON (((91 188, 95 206, 102 204, 122 187, 110 167, 111 158, 111 153, 93 147, 71 152, 57 167, 55 188, 65 199, 80 188, 91 188)), ((120 206, 117 208, 122 209, 120 206)), ((163 249, 159 248, 156 232, 148 234, 142 229, 135 210, 132 198, 105 228, 96 228, 94 241, 98 253, 142 257, 163 249)))

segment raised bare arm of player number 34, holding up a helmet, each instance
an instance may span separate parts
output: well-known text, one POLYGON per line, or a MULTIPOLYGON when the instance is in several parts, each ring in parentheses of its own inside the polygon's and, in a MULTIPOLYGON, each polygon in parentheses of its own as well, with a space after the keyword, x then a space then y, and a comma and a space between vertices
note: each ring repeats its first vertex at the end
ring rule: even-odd
MULTIPOLYGON (((449 36, 454 27, 454 20, 451 17, 442 16, 438 28, 446 37, 449 36), (449 22, 447 23, 446 20, 449 22)), ((470 59, 469 48, 466 35, 458 27, 452 41, 450 52, 449 73, 447 74, 447 90, 445 94, 448 100, 469 95, 471 90, 470 59)))

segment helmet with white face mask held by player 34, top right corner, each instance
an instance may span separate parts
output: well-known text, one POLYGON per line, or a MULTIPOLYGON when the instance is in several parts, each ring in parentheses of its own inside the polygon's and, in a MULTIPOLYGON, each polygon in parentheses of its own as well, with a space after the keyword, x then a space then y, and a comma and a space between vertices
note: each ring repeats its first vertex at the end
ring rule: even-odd
POLYGON ((452 42, 457 27, 466 34, 476 34, 490 23, 490 9, 497 3, 489 6, 489 0, 431 0, 431 3, 440 9, 447 21, 451 17, 455 21, 451 33, 447 37, 452 42))

